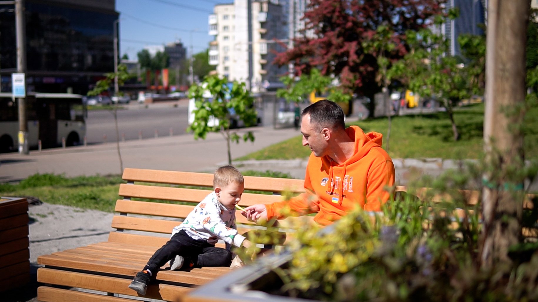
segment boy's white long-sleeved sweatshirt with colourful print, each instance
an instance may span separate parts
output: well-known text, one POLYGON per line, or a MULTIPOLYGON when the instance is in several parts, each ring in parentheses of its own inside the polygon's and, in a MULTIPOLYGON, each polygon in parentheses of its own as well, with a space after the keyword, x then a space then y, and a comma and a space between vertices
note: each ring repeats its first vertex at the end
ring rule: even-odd
POLYGON ((240 247, 245 240, 236 228, 235 208, 224 207, 213 191, 194 207, 181 225, 174 227, 172 236, 184 229, 190 238, 205 240, 211 245, 222 239, 226 249, 230 249, 231 245, 240 247))

